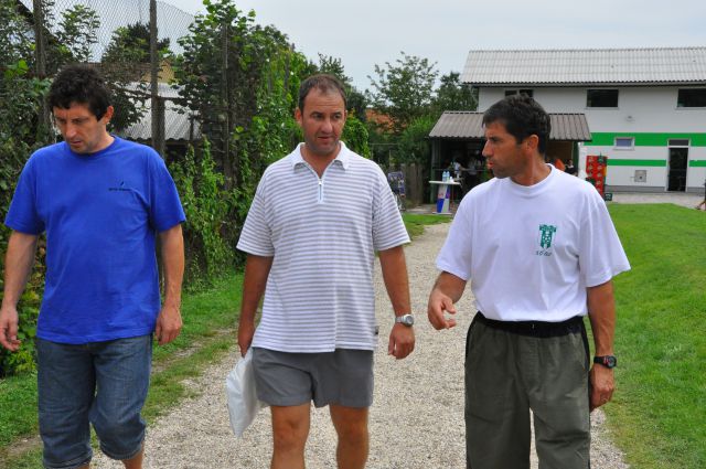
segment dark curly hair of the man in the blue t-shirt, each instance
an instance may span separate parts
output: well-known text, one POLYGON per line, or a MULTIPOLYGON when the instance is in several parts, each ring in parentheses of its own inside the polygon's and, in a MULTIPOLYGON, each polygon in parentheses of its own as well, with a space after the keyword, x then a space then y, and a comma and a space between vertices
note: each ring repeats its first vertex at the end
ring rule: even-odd
POLYGON ((110 90, 95 67, 68 65, 52 82, 46 100, 51 108, 63 109, 72 103, 85 104, 100 119, 110 106, 110 90))

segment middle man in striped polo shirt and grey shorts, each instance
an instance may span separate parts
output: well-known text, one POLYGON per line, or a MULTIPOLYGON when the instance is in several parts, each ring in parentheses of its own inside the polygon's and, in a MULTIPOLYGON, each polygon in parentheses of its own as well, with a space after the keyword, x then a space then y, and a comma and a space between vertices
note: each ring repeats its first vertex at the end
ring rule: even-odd
POLYGON ((415 344, 402 247, 409 237, 385 174, 340 141, 345 117, 335 77, 301 84, 304 142, 263 174, 237 246, 248 255, 238 344, 242 354, 253 347, 257 394, 271 407, 274 469, 304 467, 311 401, 329 405, 339 468, 365 466, 375 252, 396 318, 388 353, 404 359, 415 344))

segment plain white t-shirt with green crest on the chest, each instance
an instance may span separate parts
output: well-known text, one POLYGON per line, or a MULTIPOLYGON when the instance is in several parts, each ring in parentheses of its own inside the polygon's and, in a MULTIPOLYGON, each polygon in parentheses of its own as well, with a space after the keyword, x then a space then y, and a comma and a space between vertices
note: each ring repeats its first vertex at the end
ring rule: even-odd
POLYGON ((490 319, 586 315, 586 288, 630 269, 596 189, 549 168, 531 186, 510 178, 475 186, 437 258, 440 270, 471 279, 475 307, 490 319))

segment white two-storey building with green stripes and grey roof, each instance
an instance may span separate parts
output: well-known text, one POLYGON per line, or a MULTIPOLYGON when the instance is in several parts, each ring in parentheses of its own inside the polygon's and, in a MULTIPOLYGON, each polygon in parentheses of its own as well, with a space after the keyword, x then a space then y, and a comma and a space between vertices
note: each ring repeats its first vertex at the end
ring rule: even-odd
POLYGON ((706 47, 471 51, 461 81, 479 111, 514 93, 586 116, 585 154, 608 156, 608 190, 704 190, 706 47))

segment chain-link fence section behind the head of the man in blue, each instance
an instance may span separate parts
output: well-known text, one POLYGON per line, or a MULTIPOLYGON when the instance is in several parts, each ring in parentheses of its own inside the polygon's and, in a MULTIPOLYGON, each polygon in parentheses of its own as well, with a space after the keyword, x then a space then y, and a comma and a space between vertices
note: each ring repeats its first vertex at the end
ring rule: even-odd
MULTIPOLYGON (((193 119, 172 103, 175 93, 158 85, 172 78, 165 64, 182 52, 178 40, 189 33, 191 14, 150 0, 17 1, 34 35, 36 76, 51 77, 64 63, 98 64, 114 90, 114 131, 149 141, 162 156, 165 128, 189 129, 172 131, 174 141, 193 137, 193 119)), ((49 126, 49 110, 41 114, 49 126)))

